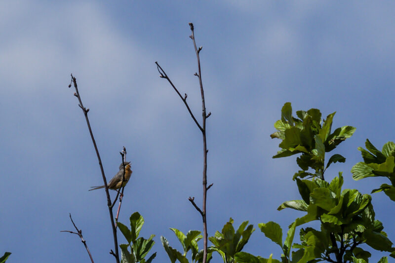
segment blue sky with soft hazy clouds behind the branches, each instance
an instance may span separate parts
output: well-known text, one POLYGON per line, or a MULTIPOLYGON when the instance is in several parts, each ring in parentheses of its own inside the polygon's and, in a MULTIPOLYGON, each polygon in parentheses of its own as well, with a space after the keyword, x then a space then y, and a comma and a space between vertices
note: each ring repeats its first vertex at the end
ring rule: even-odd
MULTIPOLYGON (((272 159, 269 135, 285 102, 293 109, 337 112, 334 126, 355 126, 336 152, 344 188, 369 193, 385 180, 353 181, 366 138, 394 141, 395 3, 393 1, 24 1, 0 3, 0 252, 9 262, 87 262, 69 213, 96 262, 112 262, 112 232, 100 169, 73 90, 79 91, 107 178, 125 146, 132 179, 119 221, 145 218, 156 234, 155 262, 168 262, 159 237, 181 247, 168 227, 202 230, 188 197, 201 200, 201 134, 182 101, 158 77, 165 69, 200 116, 195 24, 207 120, 209 235, 230 217, 276 221, 283 229, 301 214, 276 211, 299 199, 294 157, 272 159)), ((113 193, 114 195, 114 193, 113 193)), ((377 219, 395 240, 393 205, 373 195, 377 219)), ((119 236, 120 242, 123 237, 119 236)), ((295 237, 295 241, 297 237, 295 237)), ((201 246, 201 245, 200 245, 201 246)), ((257 229, 245 251, 279 258, 257 229)), ((385 254, 374 253, 372 260, 385 254)), ((214 262, 219 262, 215 256, 214 262)))

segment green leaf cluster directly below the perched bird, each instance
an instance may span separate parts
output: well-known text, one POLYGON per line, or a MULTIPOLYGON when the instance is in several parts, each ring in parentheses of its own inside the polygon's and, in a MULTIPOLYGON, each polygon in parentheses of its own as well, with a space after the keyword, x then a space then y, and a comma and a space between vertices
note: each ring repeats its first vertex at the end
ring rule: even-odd
POLYGON ((153 240, 155 235, 151 235, 148 239, 139 237, 143 224, 144 218, 138 212, 130 216, 130 229, 126 225, 117 222, 119 230, 128 242, 128 244, 119 245, 122 255, 121 263, 151 263, 156 257, 157 253, 155 252, 147 260, 145 259, 155 244, 153 240), (130 252, 128 248, 130 248, 130 252))

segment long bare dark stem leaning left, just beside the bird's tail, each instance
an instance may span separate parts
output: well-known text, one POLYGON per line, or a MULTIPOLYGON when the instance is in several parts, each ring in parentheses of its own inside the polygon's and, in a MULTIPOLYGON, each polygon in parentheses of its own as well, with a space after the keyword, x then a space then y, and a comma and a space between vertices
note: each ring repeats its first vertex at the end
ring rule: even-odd
MULTIPOLYGON (((114 247, 115 247, 115 255, 114 256, 115 256, 115 259, 116 259, 117 263, 119 263, 117 228, 115 227, 115 222, 114 222, 113 207, 111 206, 112 203, 111 203, 111 198, 110 198, 110 192, 108 190, 107 180, 106 180, 106 176, 104 174, 102 160, 100 158, 99 150, 97 149, 96 141, 95 141, 95 138, 93 137, 92 129, 90 127, 90 123, 89 123, 89 119, 88 119, 89 109, 86 109, 85 107, 83 107, 83 104, 82 104, 82 101, 81 101, 81 97, 79 96, 79 92, 78 92, 77 79, 73 76, 73 74, 71 75, 71 79, 72 79, 72 82, 74 83, 74 87, 76 89, 76 92, 74 93, 74 95, 78 98, 78 100, 79 100, 79 108, 82 109, 82 112, 85 115, 85 120, 86 120, 86 124, 88 125, 90 138, 92 139, 92 143, 93 143, 93 146, 94 146, 95 151, 96 151, 97 159, 99 160, 100 171, 102 173, 104 187, 105 187, 106 195, 107 195, 107 206, 108 206, 108 210, 109 210, 109 214, 110 214, 111 226, 113 228, 114 247)), ((69 87, 70 86, 71 85, 69 85, 69 87)))

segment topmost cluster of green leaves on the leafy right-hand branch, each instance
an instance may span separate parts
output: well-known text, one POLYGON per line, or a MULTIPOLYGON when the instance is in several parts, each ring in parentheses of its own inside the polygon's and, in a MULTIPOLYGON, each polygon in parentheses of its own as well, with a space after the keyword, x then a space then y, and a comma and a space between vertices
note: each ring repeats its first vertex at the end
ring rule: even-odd
POLYGON ((340 154, 332 155, 326 166, 325 152, 335 149, 341 142, 350 138, 355 132, 352 126, 343 126, 331 132, 332 121, 335 113, 321 120, 321 113, 317 109, 309 111, 297 111, 297 117, 292 116, 292 107, 289 102, 285 103, 281 110, 281 119, 275 123, 276 132, 272 138, 281 139, 277 152, 273 158, 286 157, 301 153, 297 163, 302 169, 295 173, 293 179, 298 177, 324 178, 325 170, 336 162, 345 162, 346 158, 340 154), (312 168, 314 173, 307 172, 312 168))

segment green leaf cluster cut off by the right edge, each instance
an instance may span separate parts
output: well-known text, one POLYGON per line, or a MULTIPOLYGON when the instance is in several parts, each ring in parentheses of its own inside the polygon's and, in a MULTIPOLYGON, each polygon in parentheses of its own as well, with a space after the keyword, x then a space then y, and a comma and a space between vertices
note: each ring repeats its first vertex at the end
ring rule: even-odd
POLYGON ((363 162, 358 162, 351 169, 354 180, 376 176, 387 177, 392 185, 382 184, 379 188, 373 189, 372 193, 384 191, 391 200, 395 201, 395 143, 386 143, 380 151, 366 139, 365 146, 367 150, 358 147, 363 162))

